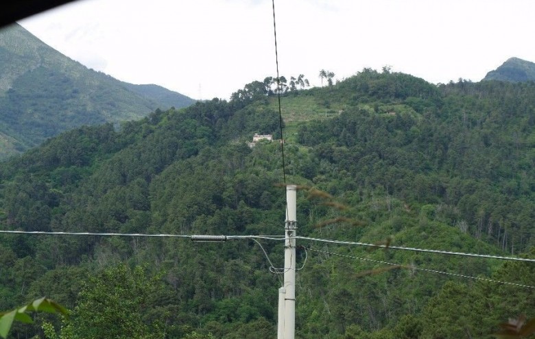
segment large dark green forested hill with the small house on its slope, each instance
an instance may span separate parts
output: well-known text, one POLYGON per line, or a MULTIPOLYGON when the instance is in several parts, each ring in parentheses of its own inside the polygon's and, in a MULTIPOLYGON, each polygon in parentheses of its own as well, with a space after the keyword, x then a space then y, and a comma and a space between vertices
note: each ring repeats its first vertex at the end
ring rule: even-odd
MULTIPOLYGON (((534 262, 392 248, 535 258, 534 83, 364 69, 285 91, 285 176, 281 142, 247 144, 281 138, 277 102, 249 84, 51 138, 0 164, 1 229, 282 236, 285 178, 298 235, 391 247, 298 240, 296 338, 493 338, 535 316, 534 262)), ((0 309, 46 295, 73 312, 12 338, 44 321, 59 338, 276 338, 283 243, 258 241, 1 234, 0 309)))

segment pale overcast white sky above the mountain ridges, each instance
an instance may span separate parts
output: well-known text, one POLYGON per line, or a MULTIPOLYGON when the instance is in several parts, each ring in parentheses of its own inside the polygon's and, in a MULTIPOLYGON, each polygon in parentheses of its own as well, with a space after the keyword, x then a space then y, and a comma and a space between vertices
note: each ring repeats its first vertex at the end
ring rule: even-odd
MULTIPOLYGON (((318 86, 364 67, 432 83, 535 62, 532 0, 275 0, 281 75, 318 86)), ((228 99, 276 75, 271 0, 79 0, 19 21, 47 45, 132 84, 228 99)))

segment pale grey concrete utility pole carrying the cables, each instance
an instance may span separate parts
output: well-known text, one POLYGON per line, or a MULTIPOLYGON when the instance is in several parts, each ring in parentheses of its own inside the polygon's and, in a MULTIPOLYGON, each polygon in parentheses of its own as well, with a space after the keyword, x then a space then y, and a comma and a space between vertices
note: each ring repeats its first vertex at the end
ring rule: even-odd
POLYGON ((296 229, 297 186, 286 186, 284 285, 278 289, 277 339, 294 339, 296 334, 296 229))

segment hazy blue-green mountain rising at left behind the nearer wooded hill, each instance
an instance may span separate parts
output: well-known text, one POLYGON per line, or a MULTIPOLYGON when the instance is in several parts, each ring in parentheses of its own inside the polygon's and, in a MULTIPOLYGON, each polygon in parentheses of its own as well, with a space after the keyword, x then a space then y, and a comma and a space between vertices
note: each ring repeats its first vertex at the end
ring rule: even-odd
POLYGON ((18 24, 0 30, 0 159, 81 125, 138 119, 193 99, 86 68, 18 24))

